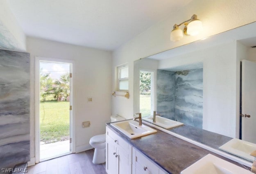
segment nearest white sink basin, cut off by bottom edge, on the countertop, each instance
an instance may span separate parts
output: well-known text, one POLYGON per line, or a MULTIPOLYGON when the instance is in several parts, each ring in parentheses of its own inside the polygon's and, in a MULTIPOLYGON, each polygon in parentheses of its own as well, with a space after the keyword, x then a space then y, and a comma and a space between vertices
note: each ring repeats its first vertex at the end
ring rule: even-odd
POLYGON ((184 169, 181 174, 252 174, 249 170, 208 154, 184 169))

